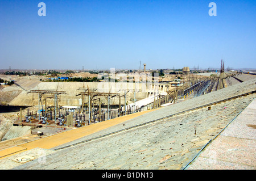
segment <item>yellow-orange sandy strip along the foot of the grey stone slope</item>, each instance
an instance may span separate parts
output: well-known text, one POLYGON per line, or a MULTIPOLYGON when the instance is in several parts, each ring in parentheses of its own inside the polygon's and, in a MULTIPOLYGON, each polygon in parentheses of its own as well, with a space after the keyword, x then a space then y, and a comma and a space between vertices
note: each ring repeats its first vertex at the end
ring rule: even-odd
POLYGON ((25 144, 20 144, 19 146, 13 147, 13 148, 16 148, 16 149, 17 148, 23 148, 23 149, 20 149, 20 151, 18 151, 18 150, 15 151, 13 149, 8 149, 8 148, 4 149, 4 150, 0 150, 0 155, 7 155, 7 156, 0 157, 0 159, 5 158, 5 157, 9 157, 10 155, 20 153, 20 152, 25 151, 25 150, 34 149, 34 148, 51 149, 51 148, 54 148, 56 146, 65 144, 67 142, 76 140, 78 138, 87 136, 89 134, 101 131, 102 129, 112 127, 113 125, 122 123, 126 120, 133 119, 134 117, 143 115, 144 113, 151 112, 151 111, 154 111, 154 110, 137 112, 137 113, 133 113, 133 114, 126 115, 126 116, 117 117, 115 119, 102 121, 100 123, 91 124, 91 125, 88 125, 88 126, 85 126, 85 127, 77 128, 77 129, 72 129, 71 131, 62 132, 62 133, 59 133, 59 134, 53 134, 52 136, 40 138, 38 140, 34 140, 34 141, 31 141, 31 142, 27 142, 25 144))

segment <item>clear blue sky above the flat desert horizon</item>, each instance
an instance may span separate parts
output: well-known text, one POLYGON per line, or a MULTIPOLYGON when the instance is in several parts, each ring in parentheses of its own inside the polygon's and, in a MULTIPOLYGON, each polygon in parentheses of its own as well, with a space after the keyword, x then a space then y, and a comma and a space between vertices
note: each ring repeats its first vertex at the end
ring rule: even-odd
POLYGON ((255 0, 1 0, 0 69, 256 68, 255 31, 255 0))

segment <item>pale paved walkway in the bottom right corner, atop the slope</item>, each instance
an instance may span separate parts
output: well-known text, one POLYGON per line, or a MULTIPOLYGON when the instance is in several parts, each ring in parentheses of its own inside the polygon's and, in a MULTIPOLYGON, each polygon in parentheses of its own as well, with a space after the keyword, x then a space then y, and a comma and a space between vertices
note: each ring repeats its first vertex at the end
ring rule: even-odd
POLYGON ((256 99, 192 162, 188 170, 256 169, 256 99))

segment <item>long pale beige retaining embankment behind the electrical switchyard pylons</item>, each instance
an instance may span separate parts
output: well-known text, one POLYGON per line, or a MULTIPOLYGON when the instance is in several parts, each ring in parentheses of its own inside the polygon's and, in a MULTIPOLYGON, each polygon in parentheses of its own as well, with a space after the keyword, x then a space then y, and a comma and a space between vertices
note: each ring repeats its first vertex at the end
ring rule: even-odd
MULTIPOLYGON (((31 86, 32 87, 32 86, 31 86)), ((29 87, 29 88, 31 88, 29 87)), ((135 87, 135 83, 103 83, 103 82, 41 82, 37 84, 35 87, 29 90, 59 90, 65 91, 67 94, 58 95, 58 104, 59 106, 81 106, 81 95, 78 95, 81 91, 81 87, 89 87, 90 89, 97 89, 95 92, 114 92, 121 93, 123 95, 123 91, 119 91, 122 89, 129 90, 127 93, 126 101, 128 104, 133 103, 134 93, 133 90, 135 87)), ((167 87, 167 86, 166 86, 167 87)), ((22 88, 18 87, 20 90, 22 88)), ((26 86, 26 89, 28 86, 26 86)), ((151 92, 152 86, 147 85, 146 83, 137 83, 136 89, 138 90, 136 93, 136 99, 141 100, 148 96, 148 92, 151 92)), ((159 91, 164 92, 166 88, 163 89, 163 86, 159 86, 159 91)), ((47 97, 53 96, 50 94, 46 94, 47 97)), ((44 96, 42 98, 44 100, 44 96)), ((88 102, 88 97, 85 98, 85 102, 88 102)), ((107 104, 107 98, 102 97, 102 103, 107 104)), ((44 101, 43 101, 44 104, 44 101)), ((119 97, 115 96, 110 99, 110 104, 119 104, 119 97)), ((124 104, 124 98, 121 98, 121 104, 124 104)), ((12 106, 38 106, 38 94, 32 94, 28 91, 23 90, 16 98, 9 102, 9 105, 12 106)), ((53 106, 54 99, 47 99, 47 106, 53 106)))

